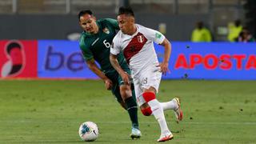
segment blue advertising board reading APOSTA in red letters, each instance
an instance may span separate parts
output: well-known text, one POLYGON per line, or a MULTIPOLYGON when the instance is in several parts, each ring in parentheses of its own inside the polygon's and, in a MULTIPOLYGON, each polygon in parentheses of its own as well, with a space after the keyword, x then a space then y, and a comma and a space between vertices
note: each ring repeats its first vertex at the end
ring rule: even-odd
MULTIPOLYGON (((159 61, 163 47, 155 45, 159 61)), ((162 78, 256 79, 256 43, 173 42, 170 74, 162 78)))

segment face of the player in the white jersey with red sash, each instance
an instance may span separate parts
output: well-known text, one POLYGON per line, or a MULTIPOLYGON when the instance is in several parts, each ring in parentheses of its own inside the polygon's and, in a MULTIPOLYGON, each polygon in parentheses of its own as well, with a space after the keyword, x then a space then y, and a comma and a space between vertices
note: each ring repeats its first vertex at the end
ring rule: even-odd
POLYGON ((134 29, 134 17, 126 14, 118 15, 118 26, 123 34, 130 34, 134 29))

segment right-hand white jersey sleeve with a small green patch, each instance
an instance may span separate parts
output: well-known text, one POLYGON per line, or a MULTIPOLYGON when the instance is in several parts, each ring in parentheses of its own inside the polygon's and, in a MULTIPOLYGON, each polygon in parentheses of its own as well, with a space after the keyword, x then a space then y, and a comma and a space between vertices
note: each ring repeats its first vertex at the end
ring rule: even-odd
POLYGON ((155 42, 157 44, 161 44, 165 40, 165 38, 166 38, 159 31, 153 30, 153 29, 150 29, 150 28, 146 28, 145 33, 146 33, 146 36, 150 40, 152 40, 153 42, 155 42))

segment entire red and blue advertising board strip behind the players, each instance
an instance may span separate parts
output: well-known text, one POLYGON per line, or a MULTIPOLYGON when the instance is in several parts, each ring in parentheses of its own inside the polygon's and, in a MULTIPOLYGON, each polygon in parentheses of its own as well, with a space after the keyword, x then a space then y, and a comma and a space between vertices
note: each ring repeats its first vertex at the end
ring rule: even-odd
MULTIPOLYGON (((155 44, 159 62, 164 48, 155 44)), ((256 79, 256 43, 172 42, 170 73, 163 79, 256 79)), ((98 78, 78 42, 0 41, 0 78, 98 78)))

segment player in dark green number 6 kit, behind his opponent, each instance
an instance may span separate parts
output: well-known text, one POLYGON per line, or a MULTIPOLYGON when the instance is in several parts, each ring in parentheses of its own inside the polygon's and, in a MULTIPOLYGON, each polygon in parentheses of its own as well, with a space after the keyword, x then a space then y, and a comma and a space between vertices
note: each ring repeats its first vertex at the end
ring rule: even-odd
MULTIPOLYGON (((87 66, 105 82, 106 89, 111 90, 121 106, 128 111, 132 122, 130 137, 140 138, 142 134, 138 129, 138 107, 135 102, 134 90, 131 90, 133 86, 124 83, 110 64, 110 46, 116 30, 119 30, 118 22, 110 18, 96 21, 90 10, 80 11, 78 18, 79 24, 84 30, 79 46, 87 66), (98 62, 100 68, 95 61, 98 62)), ((118 62, 126 70, 126 73, 130 74, 130 69, 122 54, 119 54, 118 62)))

